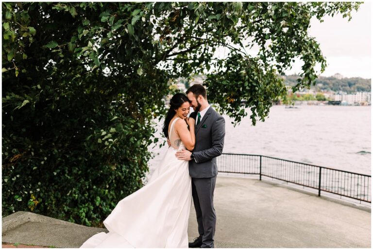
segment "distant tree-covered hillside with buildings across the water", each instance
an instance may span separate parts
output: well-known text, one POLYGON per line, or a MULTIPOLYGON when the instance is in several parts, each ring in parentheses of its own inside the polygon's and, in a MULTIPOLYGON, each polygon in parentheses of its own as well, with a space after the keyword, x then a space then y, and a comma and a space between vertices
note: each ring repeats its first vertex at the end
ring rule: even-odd
MULTIPOLYGON (((289 75, 283 77, 285 79, 285 84, 290 86, 294 86, 299 78, 298 75, 289 75)), ((316 79, 316 85, 311 86, 311 89, 316 89, 318 91, 343 91, 347 93, 364 91, 371 92, 371 79, 363 79, 360 77, 337 79, 334 77, 319 76, 319 78, 316 79)))

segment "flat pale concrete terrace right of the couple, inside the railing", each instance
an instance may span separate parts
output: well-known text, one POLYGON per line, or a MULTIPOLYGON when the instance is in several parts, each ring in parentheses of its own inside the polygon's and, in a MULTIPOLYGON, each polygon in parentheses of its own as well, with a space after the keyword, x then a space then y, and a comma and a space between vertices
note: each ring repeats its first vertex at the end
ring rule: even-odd
MULTIPOLYGON (((279 184, 219 175, 214 205, 217 241, 246 248, 371 247, 370 212, 279 184)), ((188 234, 198 236, 194 209, 188 234)))

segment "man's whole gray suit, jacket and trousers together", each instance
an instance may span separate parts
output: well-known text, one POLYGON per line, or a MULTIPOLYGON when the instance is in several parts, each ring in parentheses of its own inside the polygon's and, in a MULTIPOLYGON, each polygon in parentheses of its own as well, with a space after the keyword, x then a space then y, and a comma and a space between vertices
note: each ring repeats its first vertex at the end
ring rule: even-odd
MULTIPOLYGON (((190 114, 190 117, 196 119, 197 112, 190 114)), ((196 126, 195 134, 196 143, 193 150, 195 158, 189 161, 192 196, 197 214, 198 232, 202 236, 201 248, 213 248, 216 225, 213 200, 218 174, 216 157, 223 151, 224 118, 209 107, 201 122, 196 126)))

